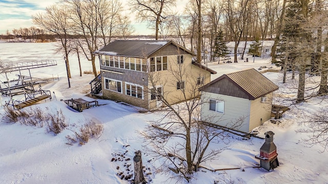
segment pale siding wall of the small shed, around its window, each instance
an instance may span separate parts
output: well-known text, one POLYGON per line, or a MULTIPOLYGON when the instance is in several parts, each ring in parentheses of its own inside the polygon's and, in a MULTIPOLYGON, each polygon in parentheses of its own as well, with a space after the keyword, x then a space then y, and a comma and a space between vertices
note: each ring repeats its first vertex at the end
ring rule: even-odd
POLYGON ((249 132, 249 112, 250 112, 250 101, 248 99, 236 98, 226 95, 218 95, 213 93, 207 93, 202 91, 201 99, 203 103, 201 105, 201 120, 213 124, 218 124, 224 127, 234 127, 236 121, 243 118, 244 121, 238 127, 233 129, 240 130, 243 132, 249 132), (219 113, 210 110, 210 99, 224 101, 224 113, 219 113))

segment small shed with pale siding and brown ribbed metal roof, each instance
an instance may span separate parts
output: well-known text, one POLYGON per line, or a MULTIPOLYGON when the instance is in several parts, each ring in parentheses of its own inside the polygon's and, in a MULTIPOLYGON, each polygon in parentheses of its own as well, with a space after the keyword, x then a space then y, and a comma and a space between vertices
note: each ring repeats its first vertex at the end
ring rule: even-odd
POLYGON ((248 133, 271 118, 277 89, 254 68, 224 74, 199 88, 206 102, 201 105, 201 120, 248 133))

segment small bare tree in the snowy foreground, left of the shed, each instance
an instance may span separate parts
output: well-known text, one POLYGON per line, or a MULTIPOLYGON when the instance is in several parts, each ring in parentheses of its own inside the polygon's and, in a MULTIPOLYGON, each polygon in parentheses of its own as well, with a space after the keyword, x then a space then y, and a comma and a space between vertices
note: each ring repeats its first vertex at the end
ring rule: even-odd
MULTIPOLYGON (((174 172, 173 177, 189 182, 201 163, 218 157, 227 149, 225 146, 209 149, 210 144, 227 142, 223 131, 206 126, 200 120, 200 106, 208 100, 199 98, 201 92, 198 88, 204 82, 199 76, 209 74, 191 74, 190 67, 184 64, 170 64, 167 72, 174 76, 174 80, 163 79, 158 72, 148 73, 150 86, 146 91, 149 90, 151 96, 163 104, 164 107, 157 112, 163 118, 151 122, 140 133, 145 137, 147 153, 165 158, 161 169, 174 172), (180 103, 173 104, 173 101, 180 103)), ((148 71, 154 71, 154 68, 149 67, 148 71)))

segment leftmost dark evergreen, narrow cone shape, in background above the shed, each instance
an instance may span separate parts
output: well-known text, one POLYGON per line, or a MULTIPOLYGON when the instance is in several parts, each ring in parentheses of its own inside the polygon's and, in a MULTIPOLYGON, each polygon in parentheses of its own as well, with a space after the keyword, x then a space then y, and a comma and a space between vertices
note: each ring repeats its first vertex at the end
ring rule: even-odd
POLYGON ((224 57, 229 54, 226 43, 227 42, 223 39, 223 31, 220 30, 214 38, 213 46, 213 58, 218 60, 218 64, 220 64, 220 57, 224 57))

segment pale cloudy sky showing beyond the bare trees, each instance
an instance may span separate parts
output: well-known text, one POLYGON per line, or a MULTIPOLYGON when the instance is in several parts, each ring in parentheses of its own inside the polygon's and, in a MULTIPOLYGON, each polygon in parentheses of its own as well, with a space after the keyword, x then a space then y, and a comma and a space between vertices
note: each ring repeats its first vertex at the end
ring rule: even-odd
MULTIPOLYGON (((121 0, 126 4, 127 0, 121 0)), ((188 0, 177 0, 177 7, 181 10, 188 0)), ((37 12, 42 12, 49 5, 58 0, 0 0, 0 34, 6 34, 6 30, 12 32, 13 29, 29 28, 35 26, 31 16, 37 12)), ((178 9, 177 9, 178 10, 178 9)), ((135 34, 151 35, 154 31, 147 28, 145 23, 132 21, 135 34)))

